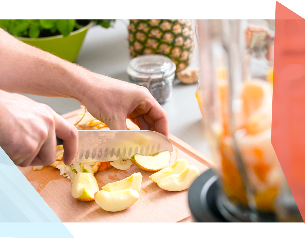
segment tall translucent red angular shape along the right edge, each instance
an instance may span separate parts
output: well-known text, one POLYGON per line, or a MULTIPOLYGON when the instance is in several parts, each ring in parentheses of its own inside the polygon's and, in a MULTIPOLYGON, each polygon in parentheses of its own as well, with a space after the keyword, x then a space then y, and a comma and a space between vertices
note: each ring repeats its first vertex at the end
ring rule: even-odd
POLYGON ((305 20, 277 1, 271 143, 305 220, 305 20))

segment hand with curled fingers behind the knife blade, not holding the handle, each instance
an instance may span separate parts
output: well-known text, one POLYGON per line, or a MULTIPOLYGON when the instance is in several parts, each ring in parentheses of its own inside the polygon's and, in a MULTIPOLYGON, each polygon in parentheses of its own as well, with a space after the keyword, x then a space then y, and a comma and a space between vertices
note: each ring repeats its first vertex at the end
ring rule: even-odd
POLYGON ((167 113, 145 87, 88 71, 79 98, 111 130, 127 130, 129 118, 140 130, 169 136, 167 113))

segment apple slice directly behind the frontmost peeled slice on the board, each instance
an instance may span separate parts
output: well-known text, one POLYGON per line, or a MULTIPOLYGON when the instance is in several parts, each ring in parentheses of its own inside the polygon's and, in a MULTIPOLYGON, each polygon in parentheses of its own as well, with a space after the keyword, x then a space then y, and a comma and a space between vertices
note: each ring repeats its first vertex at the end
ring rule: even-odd
POLYGON ((141 173, 133 173, 126 179, 106 184, 102 187, 102 190, 107 192, 114 192, 131 188, 139 193, 141 190, 142 178, 143 177, 141 173))

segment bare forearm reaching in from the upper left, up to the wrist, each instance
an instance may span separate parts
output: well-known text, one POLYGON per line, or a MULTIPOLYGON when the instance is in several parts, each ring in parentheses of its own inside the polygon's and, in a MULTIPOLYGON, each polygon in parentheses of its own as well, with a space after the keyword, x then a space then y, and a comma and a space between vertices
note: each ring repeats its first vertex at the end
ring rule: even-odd
POLYGON ((0 89, 48 97, 74 98, 89 72, 27 45, 0 29, 0 89))

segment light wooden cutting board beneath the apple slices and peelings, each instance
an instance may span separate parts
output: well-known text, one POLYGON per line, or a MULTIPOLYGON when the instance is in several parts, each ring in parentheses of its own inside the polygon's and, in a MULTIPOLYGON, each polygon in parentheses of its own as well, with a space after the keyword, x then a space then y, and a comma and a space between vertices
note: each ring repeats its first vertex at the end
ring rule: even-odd
MULTIPOLYGON (((76 110, 64 114, 71 123, 78 118, 76 110)), ((138 126, 127 119, 130 130, 139 130, 138 126)), ((174 151, 171 153, 169 166, 177 159, 185 158, 189 165, 196 165, 202 174, 209 169, 213 161, 190 145, 170 134, 174 151)), ((153 172, 147 172, 132 165, 126 171, 115 168, 94 175, 99 187, 124 179, 135 172, 141 172, 142 186, 138 201, 124 211, 104 211, 95 201, 82 202, 71 196, 70 179, 59 175, 59 169, 44 166, 40 171, 32 166, 18 167, 33 187, 50 206, 62 222, 192 222, 188 205, 188 190, 179 192, 165 191, 149 179, 153 172)))

